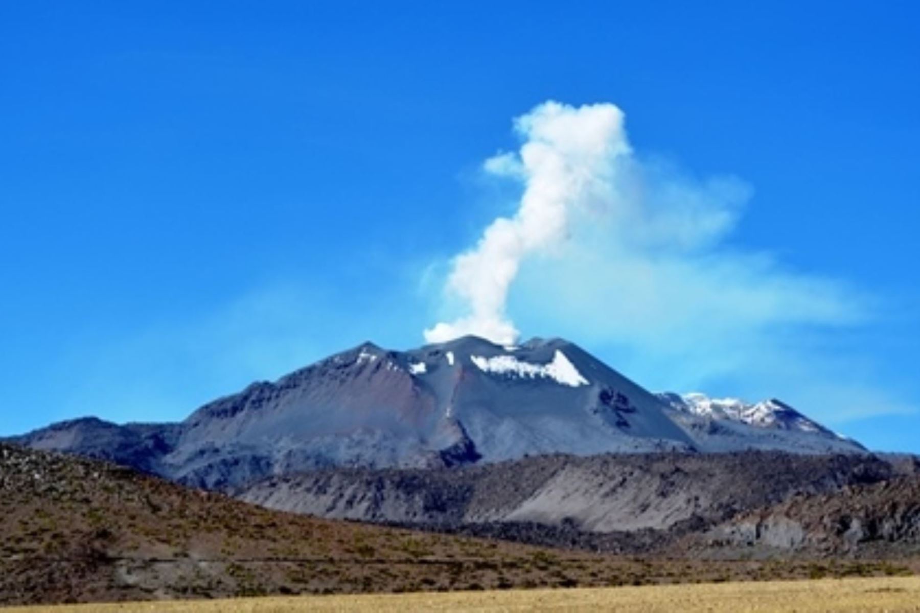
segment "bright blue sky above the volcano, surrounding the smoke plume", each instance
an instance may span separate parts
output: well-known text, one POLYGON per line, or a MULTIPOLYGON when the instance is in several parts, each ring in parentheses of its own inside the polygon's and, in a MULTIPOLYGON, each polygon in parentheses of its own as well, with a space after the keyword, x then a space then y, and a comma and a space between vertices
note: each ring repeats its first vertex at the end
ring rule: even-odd
POLYGON ((454 255, 516 209, 484 160, 552 99, 622 109, 669 186, 742 186, 715 256, 846 316, 674 317, 671 347, 625 334, 638 298, 565 300, 617 261, 550 254, 510 289, 524 336, 920 451, 920 8, 704 4, 6 3, 0 435, 179 419, 364 339, 420 345, 454 255))

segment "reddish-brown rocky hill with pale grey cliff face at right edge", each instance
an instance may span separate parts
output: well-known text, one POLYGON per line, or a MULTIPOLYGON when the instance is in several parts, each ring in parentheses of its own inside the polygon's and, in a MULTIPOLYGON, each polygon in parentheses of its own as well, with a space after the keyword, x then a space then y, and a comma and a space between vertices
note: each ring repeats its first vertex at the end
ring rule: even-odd
POLYGON ((920 552, 920 477, 797 495, 715 528, 707 546, 742 546, 824 554, 920 552))

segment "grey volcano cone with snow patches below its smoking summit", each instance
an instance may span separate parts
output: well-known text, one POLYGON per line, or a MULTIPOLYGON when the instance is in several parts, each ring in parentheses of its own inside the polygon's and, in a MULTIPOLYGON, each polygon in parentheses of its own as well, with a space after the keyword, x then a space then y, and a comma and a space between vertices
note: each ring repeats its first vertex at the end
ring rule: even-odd
POLYGON ((87 418, 11 440, 208 488, 322 467, 450 467, 558 452, 863 451, 823 428, 775 421, 682 410, 564 340, 502 347, 467 336, 407 352, 365 343, 179 424, 87 418))

